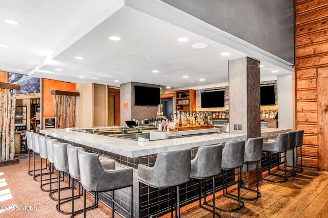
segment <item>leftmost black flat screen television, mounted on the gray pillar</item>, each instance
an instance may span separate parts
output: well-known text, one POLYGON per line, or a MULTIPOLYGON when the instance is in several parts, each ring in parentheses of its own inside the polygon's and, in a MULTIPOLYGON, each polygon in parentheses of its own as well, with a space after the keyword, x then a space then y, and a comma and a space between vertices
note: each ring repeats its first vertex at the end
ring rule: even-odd
POLYGON ((134 86, 134 105, 157 106, 159 103, 159 88, 134 86))

